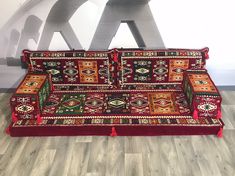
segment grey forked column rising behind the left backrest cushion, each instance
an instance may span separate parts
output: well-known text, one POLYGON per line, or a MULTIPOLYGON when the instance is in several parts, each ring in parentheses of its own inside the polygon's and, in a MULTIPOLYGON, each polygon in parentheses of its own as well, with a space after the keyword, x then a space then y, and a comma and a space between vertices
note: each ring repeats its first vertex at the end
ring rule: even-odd
POLYGON ((54 32, 60 32, 70 49, 82 49, 69 19, 87 0, 58 0, 52 7, 43 29, 38 49, 47 50, 54 32))

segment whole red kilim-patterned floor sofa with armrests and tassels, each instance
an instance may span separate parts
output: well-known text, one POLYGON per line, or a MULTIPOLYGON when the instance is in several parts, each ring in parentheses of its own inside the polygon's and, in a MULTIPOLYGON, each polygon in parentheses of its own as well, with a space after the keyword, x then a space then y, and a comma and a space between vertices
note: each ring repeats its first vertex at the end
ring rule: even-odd
POLYGON ((11 136, 222 136, 208 48, 30 51, 11 136))

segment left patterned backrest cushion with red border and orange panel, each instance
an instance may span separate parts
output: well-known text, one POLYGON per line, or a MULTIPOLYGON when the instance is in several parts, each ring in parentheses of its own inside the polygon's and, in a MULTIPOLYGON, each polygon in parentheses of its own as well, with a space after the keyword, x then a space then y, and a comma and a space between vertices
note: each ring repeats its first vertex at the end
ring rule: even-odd
POLYGON ((31 72, 49 73, 55 90, 110 89, 114 86, 113 62, 108 52, 33 51, 28 55, 31 72))

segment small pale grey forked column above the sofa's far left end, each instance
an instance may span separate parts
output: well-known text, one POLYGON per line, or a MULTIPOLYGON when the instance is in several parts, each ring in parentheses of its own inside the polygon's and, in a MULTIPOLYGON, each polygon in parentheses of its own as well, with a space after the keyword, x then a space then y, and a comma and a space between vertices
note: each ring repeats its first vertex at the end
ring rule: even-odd
POLYGON ((40 36, 39 29, 42 25, 42 20, 34 15, 30 15, 24 24, 24 28, 21 31, 21 37, 16 52, 16 58, 20 58, 22 50, 28 49, 28 41, 33 39, 35 43, 38 43, 40 36))

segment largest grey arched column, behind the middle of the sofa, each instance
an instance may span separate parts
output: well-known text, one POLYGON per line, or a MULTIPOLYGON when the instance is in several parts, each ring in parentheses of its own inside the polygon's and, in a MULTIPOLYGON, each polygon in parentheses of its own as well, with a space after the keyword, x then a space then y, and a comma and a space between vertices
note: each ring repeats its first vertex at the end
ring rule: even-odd
POLYGON ((121 22, 128 24, 139 47, 164 48, 148 2, 149 0, 109 0, 90 49, 108 49, 121 22))

